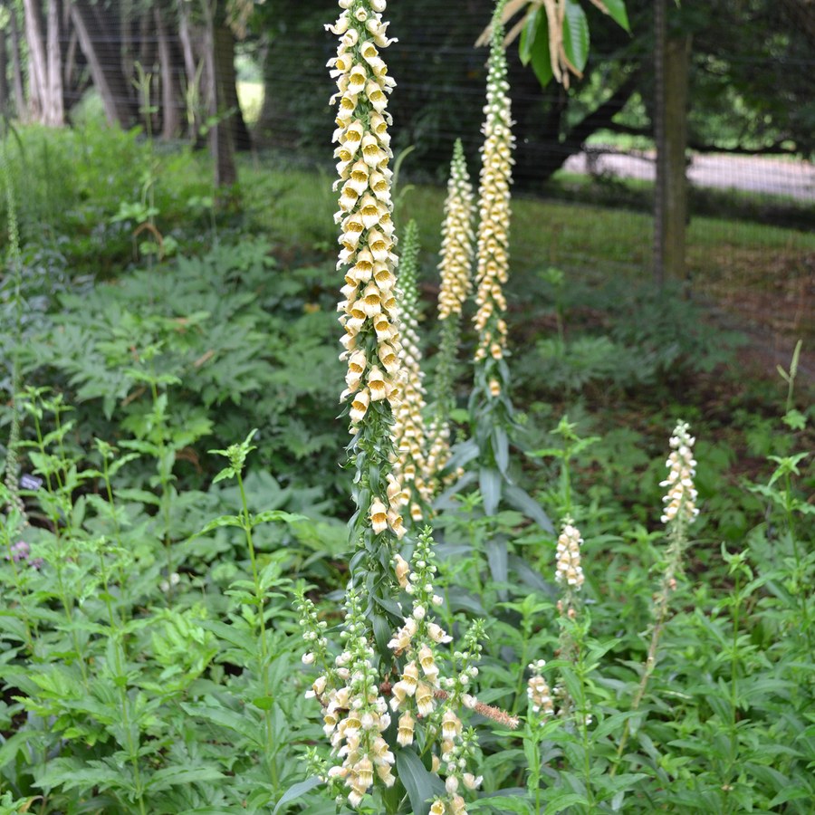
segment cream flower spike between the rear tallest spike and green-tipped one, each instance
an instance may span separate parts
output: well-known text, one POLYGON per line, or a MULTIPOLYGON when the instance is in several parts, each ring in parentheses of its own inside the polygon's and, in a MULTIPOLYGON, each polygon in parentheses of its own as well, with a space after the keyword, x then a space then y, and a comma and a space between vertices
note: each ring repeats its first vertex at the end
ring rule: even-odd
POLYGON ((461 139, 455 139, 450 177, 447 180, 445 223, 442 226, 441 289, 438 293, 438 319, 441 324, 436 358, 435 405, 429 428, 427 471, 431 494, 436 494, 441 482, 435 477, 450 458, 450 423, 454 405, 453 381, 455 360, 461 335, 461 312, 470 293, 470 269, 473 264, 473 186, 467 173, 461 139))

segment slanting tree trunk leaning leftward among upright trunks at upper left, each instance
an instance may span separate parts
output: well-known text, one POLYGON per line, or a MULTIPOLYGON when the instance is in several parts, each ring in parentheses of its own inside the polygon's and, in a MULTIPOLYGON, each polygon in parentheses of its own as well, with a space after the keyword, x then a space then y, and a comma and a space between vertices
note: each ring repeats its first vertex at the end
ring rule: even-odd
POLYGON ((89 0, 71 2, 71 20, 82 53, 91 68, 93 84, 101 96, 108 123, 119 123, 128 128, 136 119, 138 104, 134 104, 129 84, 121 70, 120 46, 116 41, 119 26, 113 20, 101 18, 99 14, 100 9, 91 6, 89 0))

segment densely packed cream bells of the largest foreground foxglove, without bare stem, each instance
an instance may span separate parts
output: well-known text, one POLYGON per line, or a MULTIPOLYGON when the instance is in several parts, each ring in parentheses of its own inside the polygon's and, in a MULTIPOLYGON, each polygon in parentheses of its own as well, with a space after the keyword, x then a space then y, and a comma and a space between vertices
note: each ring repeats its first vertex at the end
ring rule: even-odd
MULTIPOLYGON (((384 8, 385 4, 376 5, 384 8)), ((331 100, 338 101, 338 127, 334 131, 338 143, 334 155, 340 159, 340 179, 335 188, 341 189, 340 210, 335 216, 341 228, 338 268, 346 270, 347 283, 340 321, 349 335, 344 341, 346 350, 366 347, 363 340, 374 335, 378 344, 388 341, 392 356, 398 353, 398 338, 390 336, 387 329, 383 334, 383 326, 398 324, 392 293, 397 258, 392 252, 396 241, 390 217, 393 204, 388 160, 392 153, 386 112, 393 81, 386 76, 379 55, 379 49, 392 41, 385 36, 387 24, 382 23, 378 8, 370 0, 355 0, 353 4, 342 0, 340 6, 343 11, 336 24, 326 26, 340 34, 337 56, 328 63, 338 90, 331 100)), ((391 408, 396 407, 400 370, 390 364, 388 351, 384 352, 388 363, 380 363, 376 351, 370 354, 371 359, 364 355, 360 360, 359 352, 350 355, 347 395, 368 388, 369 402, 387 399, 391 408), (385 366, 384 373, 379 364, 385 366)), ((343 359, 348 356, 343 354, 343 359)), ((369 415, 362 407, 360 403, 350 413, 354 433, 369 415)))

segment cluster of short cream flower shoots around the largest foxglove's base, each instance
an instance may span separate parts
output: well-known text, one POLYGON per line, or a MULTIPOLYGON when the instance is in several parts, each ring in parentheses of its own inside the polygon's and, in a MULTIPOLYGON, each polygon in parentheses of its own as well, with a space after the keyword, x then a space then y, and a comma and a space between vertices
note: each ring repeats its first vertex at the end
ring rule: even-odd
POLYGON ((485 638, 484 621, 475 621, 460 650, 451 655, 446 647, 452 637, 435 618, 443 603, 433 585, 435 560, 429 529, 419 536, 411 562, 398 554, 393 558, 393 576, 409 600, 404 604, 401 625, 391 632, 386 676, 376 669, 361 592, 351 589, 347 594, 342 645, 336 657, 325 637, 327 623, 320 619, 313 602, 299 594, 303 640, 308 649, 302 661, 322 667, 307 696, 321 702, 323 730, 334 756, 330 769, 318 764, 317 772, 340 796, 340 805, 347 800, 359 808, 367 793, 392 786, 398 752, 414 749, 411 745, 418 743, 429 751, 432 772, 445 784, 445 793, 436 795, 432 811, 466 815, 462 793, 475 790, 482 779, 465 772, 475 755, 476 735, 472 728, 465 728, 462 711, 472 710, 511 728, 519 724, 513 716, 484 705, 473 694, 478 676, 475 662, 485 638))

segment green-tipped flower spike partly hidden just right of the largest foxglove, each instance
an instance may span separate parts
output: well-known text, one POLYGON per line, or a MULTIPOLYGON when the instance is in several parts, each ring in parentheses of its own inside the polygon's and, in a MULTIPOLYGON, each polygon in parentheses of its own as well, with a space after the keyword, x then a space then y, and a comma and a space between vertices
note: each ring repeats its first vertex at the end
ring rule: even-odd
POLYGON ((402 490, 398 496, 391 498, 391 509, 398 512, 401 504, 407 503, 410 517, 415 523, 419 523, 427 516, 432 500, 432 495, 427 487, 430 474, 427 470, 425 450, 425 419, 422 416, 426 393, 422 379, 425 375, 420 367, 422 352, 419 350, 416 331, 418 327, 416 285, 418 250, 418 228, 416 221, 410 221, 405 229, 402 245, 398 286, 402 307, 399 323, 402 350, 399 353, 399 359, 406 376, 402 402, 396 410, 396 422, 393 426, 393 442, 397 448, 397 458, 393 469, 402 490))

